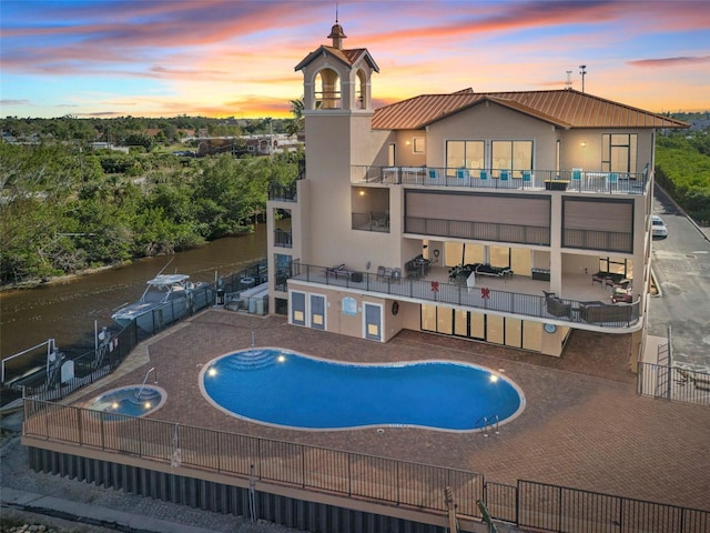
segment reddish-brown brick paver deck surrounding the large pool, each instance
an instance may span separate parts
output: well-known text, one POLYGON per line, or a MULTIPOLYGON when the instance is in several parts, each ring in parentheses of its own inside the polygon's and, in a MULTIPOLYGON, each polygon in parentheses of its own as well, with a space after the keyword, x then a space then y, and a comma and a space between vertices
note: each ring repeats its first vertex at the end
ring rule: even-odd
POLYGON ((149 382, 156 378, 168 401, 152 419, 469 470, 496 483, 529 480, 709 510, 710 411, 638 396, 628 368, 629 342, 628 335, 576 331, 561 358, 413 331, 381 344, 292 326, 283 316, 211 309, 141 344, 111 376, 69 401, 80 404, 106 390, 140 384, 154 366, 149 382), (250 348, 252 333, 256 346, 339 361, 449 360, 487 366, 515 381, 527 405, 488 436, 407 428, 295 431, 251 423, 213 408, 197 376, 207 361, 250 348))

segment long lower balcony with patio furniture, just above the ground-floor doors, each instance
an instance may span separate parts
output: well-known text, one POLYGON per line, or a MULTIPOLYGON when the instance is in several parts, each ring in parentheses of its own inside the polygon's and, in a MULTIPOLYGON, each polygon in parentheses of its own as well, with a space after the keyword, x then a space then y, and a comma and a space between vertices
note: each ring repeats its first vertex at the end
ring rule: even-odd
POLYGON ((333 275, 332 269, 300 262, 293 263, 291 281, 317 285, 345 288, 374 296, 396 298, 416 303, 450 304, 462 308, 514 314, 518 318, 540 319, 574 328, 621 330, 639 323, 640 302, 611 303, 611 292, 604 284, 595 284, 591 274, 567 274, 562 276, 565 296, 558 299, 559 306, 546 301, 544 291, 549 282, 531 276, 513 275, 488 278, 476 276, 475 286, 452 282, 448 268, 433 266, 426 278, 396 280, 369 272, 347 272, 333 275), (331 272, 328 272, 331 270, 331 272), (348 275, 351 274, 351 275, 348 275), (356 275, 352 275, 356 274, 356 275))

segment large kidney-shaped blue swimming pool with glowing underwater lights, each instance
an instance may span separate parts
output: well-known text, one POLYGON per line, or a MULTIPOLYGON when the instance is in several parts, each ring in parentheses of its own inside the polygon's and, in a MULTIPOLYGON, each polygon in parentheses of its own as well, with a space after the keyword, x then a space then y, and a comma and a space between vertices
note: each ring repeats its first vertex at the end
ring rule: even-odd
POLYGON ((243 350, 203 366, 219 409, 306 430, 404 425, 471 431, 519 414, 518 386, 491 370, 449 361, 353 364, 280 349, 243 350))

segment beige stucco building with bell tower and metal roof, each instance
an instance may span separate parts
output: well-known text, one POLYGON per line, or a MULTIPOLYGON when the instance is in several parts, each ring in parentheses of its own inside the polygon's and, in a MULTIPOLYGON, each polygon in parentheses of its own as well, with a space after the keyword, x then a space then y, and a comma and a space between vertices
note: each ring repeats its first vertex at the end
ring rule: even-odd
POLYGON ((366 49, 303 73, 305 168, 268 202, 271 310, 387 342, 403 329, 560 355, 574 329, 643 346, 656 130, 571 89, 423 94, 373 109, 366 49), (284 217, 285 215, 285 217, 284 217))

